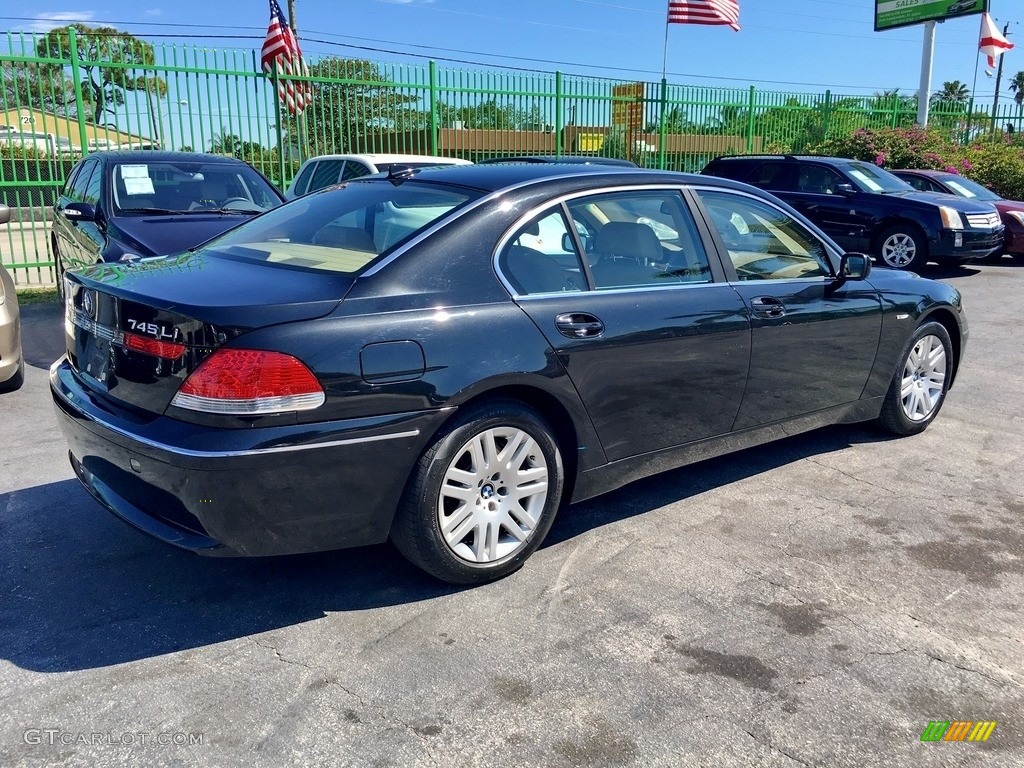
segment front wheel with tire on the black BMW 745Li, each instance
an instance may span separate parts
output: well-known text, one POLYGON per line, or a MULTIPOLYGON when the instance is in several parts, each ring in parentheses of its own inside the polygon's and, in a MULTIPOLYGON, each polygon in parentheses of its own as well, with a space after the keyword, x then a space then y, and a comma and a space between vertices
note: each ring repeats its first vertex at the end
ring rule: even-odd
POLYGON ((939 323, 923 324, 903 348, 879 423, 898 435, 924 432, 945 401, 952 371, 949 333, 939 323))

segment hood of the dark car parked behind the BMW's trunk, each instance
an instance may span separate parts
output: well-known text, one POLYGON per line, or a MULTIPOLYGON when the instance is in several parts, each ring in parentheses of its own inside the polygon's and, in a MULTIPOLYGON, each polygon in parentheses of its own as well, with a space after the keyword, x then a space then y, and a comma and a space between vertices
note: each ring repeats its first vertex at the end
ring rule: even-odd
POLYGON ((140 251, 140 256, 164 256, 195 248, 251 218, 241 213, 190 213, 118 216, 111 223, 122 237, 112 234, 126 250, 140 251))

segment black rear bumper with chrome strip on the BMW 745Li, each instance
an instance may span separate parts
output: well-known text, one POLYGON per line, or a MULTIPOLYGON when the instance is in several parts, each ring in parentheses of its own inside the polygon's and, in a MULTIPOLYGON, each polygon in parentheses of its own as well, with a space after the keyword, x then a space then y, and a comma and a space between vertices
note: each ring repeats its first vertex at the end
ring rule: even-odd
POLYGON ((109 511, 209 555, 282 555, 383 542, 422 444, 450 411, 211 429, 103 409, 66 359, 50 370, 72 466, 109 511))

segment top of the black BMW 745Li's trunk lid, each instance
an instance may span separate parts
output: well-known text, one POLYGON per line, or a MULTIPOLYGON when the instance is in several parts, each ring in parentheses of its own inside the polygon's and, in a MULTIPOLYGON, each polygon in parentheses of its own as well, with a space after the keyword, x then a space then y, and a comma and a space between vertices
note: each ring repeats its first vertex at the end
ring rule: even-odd
POLYGON ((345 297, 351 275, 224 256, 183 253, 76 269, 71 280, 122 300, 242 329, 322 317, 345 297))

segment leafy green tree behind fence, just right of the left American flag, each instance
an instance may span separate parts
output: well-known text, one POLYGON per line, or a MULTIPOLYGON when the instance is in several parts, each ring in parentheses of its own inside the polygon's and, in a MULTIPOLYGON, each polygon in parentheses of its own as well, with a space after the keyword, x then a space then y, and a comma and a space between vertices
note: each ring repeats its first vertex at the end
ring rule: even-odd
POLYGON ((312 155, 386 151, 381 131, 404 131, 426 125, 412 108, 418 96, 387 82, 374 61, 328 56, 309 67, 313 101, 300 119, 285 116, 289 136, 305 136, 312 155))

